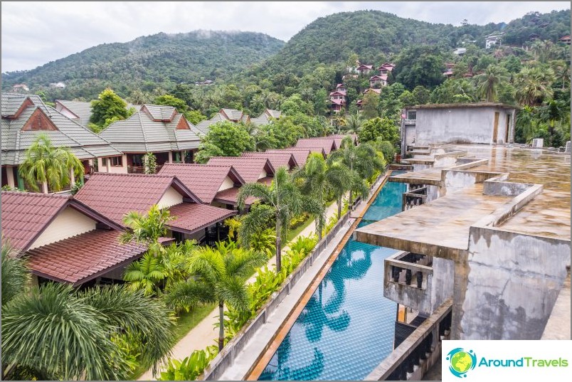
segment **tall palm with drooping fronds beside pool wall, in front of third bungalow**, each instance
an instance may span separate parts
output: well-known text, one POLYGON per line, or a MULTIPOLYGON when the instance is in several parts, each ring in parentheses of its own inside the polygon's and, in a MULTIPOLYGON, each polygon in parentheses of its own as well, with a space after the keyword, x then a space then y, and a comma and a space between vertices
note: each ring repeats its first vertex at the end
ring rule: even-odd
POLYGON ((324 215, 324 206, 314 198, 302 195, 292 176, 285 167, 280 167, 270 186, 261 183, 250 183, 240 187, 238 206, 244 208, 248 196, 254 196, 263 203, 262 208, 253 208, 244 216, 240 228, 241 243, 250 243, 252 235, 260 230, 267 221, 276 221, 276 272, 282 269, 282 236, 287 235, 288 223, 294 216, 307 212, 314 215, 324 215))

